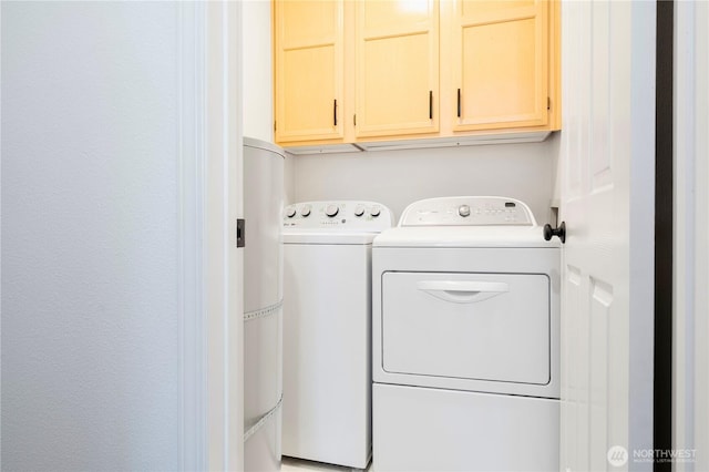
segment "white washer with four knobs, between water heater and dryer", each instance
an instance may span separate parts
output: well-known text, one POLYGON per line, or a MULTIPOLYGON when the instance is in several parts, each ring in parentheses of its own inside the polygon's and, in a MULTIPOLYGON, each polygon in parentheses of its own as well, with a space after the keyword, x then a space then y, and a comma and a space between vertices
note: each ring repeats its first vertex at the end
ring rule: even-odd
POLYGON ((371 459, 371 247, 391 226, 373 202, 286 207, 284 455, 356 469, 371 459))

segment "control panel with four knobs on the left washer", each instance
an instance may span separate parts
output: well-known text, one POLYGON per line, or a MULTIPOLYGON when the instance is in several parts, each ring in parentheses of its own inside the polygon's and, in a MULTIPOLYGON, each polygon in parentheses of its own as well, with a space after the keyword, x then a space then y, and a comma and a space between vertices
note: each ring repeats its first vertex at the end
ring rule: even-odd
POLYGON ((393 225, 393 215, 376 202, 302 202, 284 211, 285 228, 332 228, 380 232, 393 225))

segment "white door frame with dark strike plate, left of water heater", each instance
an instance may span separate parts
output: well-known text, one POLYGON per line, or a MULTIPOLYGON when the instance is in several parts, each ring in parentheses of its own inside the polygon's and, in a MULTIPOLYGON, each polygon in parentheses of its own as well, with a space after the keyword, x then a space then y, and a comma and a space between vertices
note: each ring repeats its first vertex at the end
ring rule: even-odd
POLYGON ((181 469, 242 471, 242 4, 179 12, 181 469))

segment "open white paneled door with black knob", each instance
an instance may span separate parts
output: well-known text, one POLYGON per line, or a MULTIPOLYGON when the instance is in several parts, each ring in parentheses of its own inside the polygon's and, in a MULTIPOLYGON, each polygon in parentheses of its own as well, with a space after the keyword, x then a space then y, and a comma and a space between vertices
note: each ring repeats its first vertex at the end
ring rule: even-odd
POLYGON ((653 466, 655 8, 562 8, 562 470, 653 466))

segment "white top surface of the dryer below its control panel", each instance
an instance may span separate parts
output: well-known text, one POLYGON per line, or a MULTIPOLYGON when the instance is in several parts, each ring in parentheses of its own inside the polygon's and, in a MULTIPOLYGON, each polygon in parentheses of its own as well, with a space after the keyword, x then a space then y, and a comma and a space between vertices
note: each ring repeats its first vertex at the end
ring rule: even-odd
POLYGON ((558 238, 544 240, 538 226, 427 226, 382 232, 374 247, 540 247, 559 248, 558 238))

